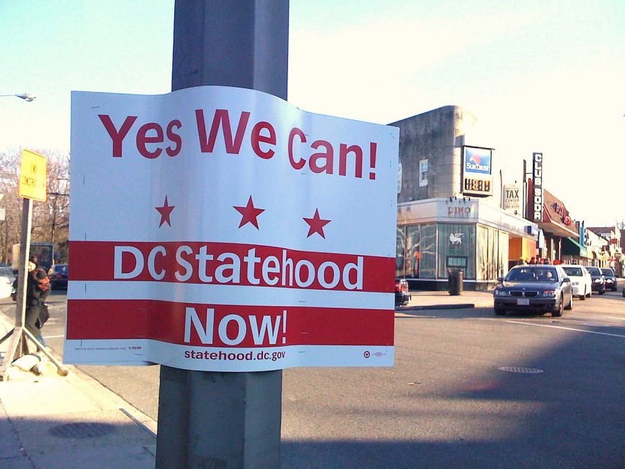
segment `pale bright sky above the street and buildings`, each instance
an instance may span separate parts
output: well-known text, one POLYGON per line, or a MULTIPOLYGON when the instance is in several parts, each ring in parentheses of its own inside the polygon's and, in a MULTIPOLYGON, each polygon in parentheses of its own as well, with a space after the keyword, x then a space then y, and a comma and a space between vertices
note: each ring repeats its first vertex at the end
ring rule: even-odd
MULTIPOLYGON (((173 0, 0 0, 0 149, 69 149, 72 90, 171 88, 173 0)), ((587 225, 625 218, 625 3, 290 2, 289 101, 388 123, 455 104, 587 225)), ((517 170, 518 168, 518 170, 517 170)))

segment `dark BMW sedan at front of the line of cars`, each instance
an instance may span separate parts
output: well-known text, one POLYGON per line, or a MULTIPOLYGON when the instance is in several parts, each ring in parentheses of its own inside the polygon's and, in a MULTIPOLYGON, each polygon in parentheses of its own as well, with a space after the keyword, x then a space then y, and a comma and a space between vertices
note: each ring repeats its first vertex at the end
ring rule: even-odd
POLYGON ((508 310, 551 312, 573 308, 571 279, 559 265, 516 265, 493 292, 494 312, 508 310))

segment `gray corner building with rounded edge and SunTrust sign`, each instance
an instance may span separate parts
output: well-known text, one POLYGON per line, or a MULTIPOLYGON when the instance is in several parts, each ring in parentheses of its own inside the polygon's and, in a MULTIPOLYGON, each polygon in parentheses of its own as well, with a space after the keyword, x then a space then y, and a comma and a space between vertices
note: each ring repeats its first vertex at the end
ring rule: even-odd
POLYGON ((535 256, 537 226, 503 210, 501 165, 473 115, 444 106, 390 125, 400 129, 396 274, 411 289, 446 290, 450 269, 465 289, 492 288, 535 256))

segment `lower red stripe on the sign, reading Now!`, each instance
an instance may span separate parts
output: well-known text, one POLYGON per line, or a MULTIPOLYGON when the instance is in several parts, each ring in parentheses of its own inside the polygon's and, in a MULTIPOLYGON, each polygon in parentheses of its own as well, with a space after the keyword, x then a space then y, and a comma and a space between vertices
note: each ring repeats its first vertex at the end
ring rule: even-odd
POLYGON ((69 299, 67 339, 180 345, 393 345, 394 311, 69 299))

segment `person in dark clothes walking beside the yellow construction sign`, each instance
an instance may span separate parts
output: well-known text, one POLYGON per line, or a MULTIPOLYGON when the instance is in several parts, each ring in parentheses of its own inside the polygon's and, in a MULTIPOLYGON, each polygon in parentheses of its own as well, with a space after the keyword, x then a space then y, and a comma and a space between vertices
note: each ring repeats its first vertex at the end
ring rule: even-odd
POLYGON ((36 256, 31 256, 28 262, 28 276, 26 277, 26 329, 41 343, 46 345, 41 328, 49 318, 46 299, 50 294, 50 279, 43 270, 36 256))

